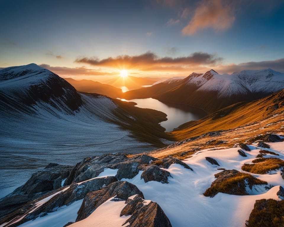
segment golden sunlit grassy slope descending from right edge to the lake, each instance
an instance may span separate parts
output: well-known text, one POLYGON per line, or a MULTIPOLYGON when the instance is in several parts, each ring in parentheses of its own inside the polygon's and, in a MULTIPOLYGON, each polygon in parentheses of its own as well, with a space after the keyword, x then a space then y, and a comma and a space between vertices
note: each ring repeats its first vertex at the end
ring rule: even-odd
POLYGON ((177 140, 206 132, 232 129, 264 120, 284 111, 284 90, 252 102, 236 103, 198 121, 182 124, 170 132, 177 140))

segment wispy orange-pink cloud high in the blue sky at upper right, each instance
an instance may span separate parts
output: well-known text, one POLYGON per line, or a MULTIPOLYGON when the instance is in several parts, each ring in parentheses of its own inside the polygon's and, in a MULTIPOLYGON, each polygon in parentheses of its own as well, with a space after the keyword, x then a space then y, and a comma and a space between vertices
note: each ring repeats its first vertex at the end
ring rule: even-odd
POLYGON ((199 2, 193 17, 182 30, 183 35, 193 35, 206 28, 214 28, 215 31, 228 29, 235 21, 232 8, 224 0, 199 2))

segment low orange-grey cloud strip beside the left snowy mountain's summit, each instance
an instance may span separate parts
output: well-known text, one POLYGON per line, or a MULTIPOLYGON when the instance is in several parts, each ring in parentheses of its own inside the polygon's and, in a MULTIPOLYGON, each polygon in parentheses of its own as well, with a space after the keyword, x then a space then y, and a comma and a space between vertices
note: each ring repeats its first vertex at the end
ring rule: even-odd
POLYGON ((69 68, 69 67, 53 67, 48 64, 41 64, 39 65, 43 68, 50 70, 60 76, 105 76, 105 75, 115 75, 109 72, 103 72, 100 69, 93 70, 87 69, 85 67, 76 67, 76 68, 69 68))

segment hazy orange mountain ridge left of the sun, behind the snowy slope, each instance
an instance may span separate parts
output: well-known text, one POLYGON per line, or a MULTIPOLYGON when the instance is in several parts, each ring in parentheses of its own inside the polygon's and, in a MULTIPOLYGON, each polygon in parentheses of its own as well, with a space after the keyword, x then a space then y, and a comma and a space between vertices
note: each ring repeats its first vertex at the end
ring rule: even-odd
POLYGON ((108 84, 95 82, 93 80, 74 80, 72 78, 64 78, 64 80, 70 83, 78 91, 87 92, 87 93, 97 93, 109 96, 111 98, 121 97, 122 95, 121 89, 113 87, 108 84))

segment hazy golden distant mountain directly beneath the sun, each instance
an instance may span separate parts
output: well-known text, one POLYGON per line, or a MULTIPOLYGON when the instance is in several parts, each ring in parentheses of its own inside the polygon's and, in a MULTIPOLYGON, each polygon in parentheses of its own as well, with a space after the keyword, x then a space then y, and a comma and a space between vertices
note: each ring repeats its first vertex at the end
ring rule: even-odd
POLYGON ((143 78, 143 77, 128 76, 126 78, 115 77, 111 80, 105 81, 104 84, 112 85, 117 88, 125 86, 129 90, 133 90, 133 89, 141 88, 141 86, 144 86, 144 85, 152 85, 156 81, 157 79, 155 78, 150 79, 149 77, 143 78))

